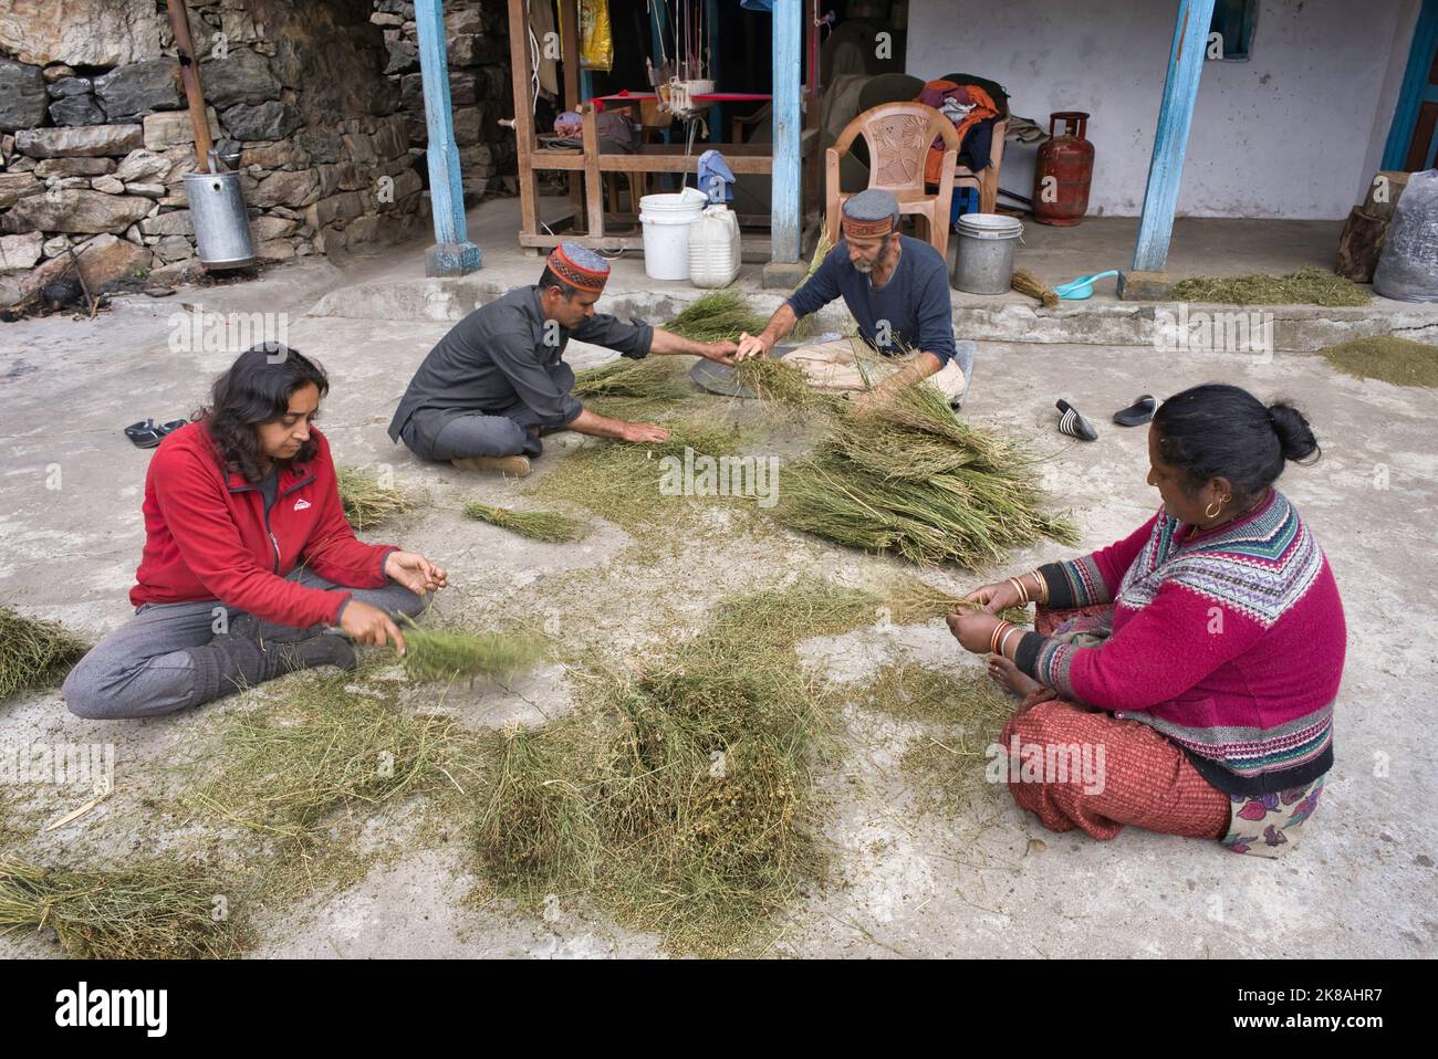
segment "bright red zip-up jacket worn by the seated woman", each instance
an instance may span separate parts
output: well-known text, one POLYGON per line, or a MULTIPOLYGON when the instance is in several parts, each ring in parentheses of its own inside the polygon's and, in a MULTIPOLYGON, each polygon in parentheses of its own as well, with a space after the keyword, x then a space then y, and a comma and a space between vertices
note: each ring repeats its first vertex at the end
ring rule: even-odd
POLYGON ((339 504, 329 443, 318 430, 311 435, 312 460, 280 464, 267 524, 259 486, 220 467, 204 424, 161 441, 145 474, 145 552, 129 601, 219 599, 265 621, 308 628, 338 624, 349 592, 286 581, 296 566, 348 588, 387 585, 384 560, 394 546, 355 539, 339 504))

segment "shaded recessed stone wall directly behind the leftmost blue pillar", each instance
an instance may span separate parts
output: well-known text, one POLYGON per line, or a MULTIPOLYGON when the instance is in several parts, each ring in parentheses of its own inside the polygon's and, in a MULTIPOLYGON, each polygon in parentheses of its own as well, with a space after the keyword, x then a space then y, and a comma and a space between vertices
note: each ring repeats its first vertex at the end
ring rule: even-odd
MULTIPOLYGON (((375 0, 374 7, 372 22, 384 29, 388 50, 384 72, 400 92, 410 147, 423 148, 429 129, 414 4, 411 0, 375 0)), ((515 194, 515 134, 499 125, 500 118, 515 114, 505 0, 446 0, 444 36, 464 200, 515 194)))

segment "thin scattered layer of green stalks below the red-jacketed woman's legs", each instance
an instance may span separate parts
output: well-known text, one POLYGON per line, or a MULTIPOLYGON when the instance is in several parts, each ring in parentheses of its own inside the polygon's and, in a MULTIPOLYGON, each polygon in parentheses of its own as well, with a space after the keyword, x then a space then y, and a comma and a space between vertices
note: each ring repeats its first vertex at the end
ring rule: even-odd
POLYGON ((457 783, 453 717, 413 714, 362 677, 306 672, 283 698, 224 717, 217 762, 186 803, 252 831, 313 838, 332 815, 457 783))

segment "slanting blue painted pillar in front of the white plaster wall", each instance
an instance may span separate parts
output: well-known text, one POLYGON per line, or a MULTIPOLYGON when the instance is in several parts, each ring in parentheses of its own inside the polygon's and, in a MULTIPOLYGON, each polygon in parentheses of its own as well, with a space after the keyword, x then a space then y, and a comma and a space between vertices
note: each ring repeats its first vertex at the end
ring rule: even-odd
POLYGON ((1135 272, 1163 272, 1168 263, 1173 210, 1178 207, 1178 187, 1188 151, 1188 129, 1194 124, 1198 78, 1204 72, 1204 52, 1212 20, 1214 0, 1179 0, 1159 125, 1153 134, 1149 184, 1143 193, 1139 240, 1133 247, 1135 272))

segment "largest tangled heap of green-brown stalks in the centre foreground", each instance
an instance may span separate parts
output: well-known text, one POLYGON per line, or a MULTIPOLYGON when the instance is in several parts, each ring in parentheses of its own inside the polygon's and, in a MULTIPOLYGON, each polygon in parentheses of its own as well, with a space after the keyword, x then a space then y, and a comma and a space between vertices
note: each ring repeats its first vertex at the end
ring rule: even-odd
POLYGON ((825 868, 810 773, 833 698, 795 644, 873 619, 867 593, 804 579, 720 605, 638 671, 591 674, 575 711, 502 737, 485 875, 532 905, 582 894, 679 951, 752 944, 825 868))

